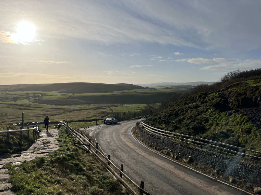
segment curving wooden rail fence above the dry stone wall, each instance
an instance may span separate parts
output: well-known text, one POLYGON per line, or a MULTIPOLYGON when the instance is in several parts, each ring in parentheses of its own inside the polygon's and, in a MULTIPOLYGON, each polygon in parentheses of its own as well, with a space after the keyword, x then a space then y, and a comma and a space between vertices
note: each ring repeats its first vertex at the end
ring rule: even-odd
POLYGON ((171 138, 175 141, 179 141, 188 145, 193 145, 193 147, 199 147, 199 148, 206 148, 207 150, 215 150, 221 153, 225 153, 230 156, 237 156, 237 157, 243 157, 249 159, 249 160, 261 160, 261 157, 255 156, 257 154, 261 155, 261 152, 247 149, 244 147, 238 147, 230 144, 225 144, 218 141, 213 141, 209 139, 204 139, 201 136, 192 136, 187 135, 185 133, 177 133, 175 130, 173 132, 171 131, 165 131, 159 127, 155 127, 152 125, 149 125, 149 123, 145 122, 145 120, 148 119, 148 117, 143 117, 140 120, 140 125, 147 131, 152 134, 156 134, 162 137, 171 138), (216 144, 216 145, 214 145, 216 144), (221 150, 218 150, 218 149, 221 150), (230 148, 230 149, 228 149, 230 148), (226 152, 225 152, 226 151, 226 152), (251 152, 251 154, 246 154, 245 151, 251 152), (234 153, 234 154, 232 154, 234 153))

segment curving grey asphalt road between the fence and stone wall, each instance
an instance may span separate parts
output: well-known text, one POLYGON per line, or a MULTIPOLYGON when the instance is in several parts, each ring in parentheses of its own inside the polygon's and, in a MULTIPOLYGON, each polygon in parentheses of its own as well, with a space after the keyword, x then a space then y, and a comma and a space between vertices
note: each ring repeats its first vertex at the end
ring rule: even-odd
POLYGON ((141 180, 145 181, 146 191, 153 195, 247 194, 178 165, 146 148, 131 134, 131 128, 137 121, 103 124, 100 128, 93 128, 91 135, 95 136, 98 144, 106 154, 110 154, 111 159, 124 165, 124 172, 131 174, 137 184, 141 180))

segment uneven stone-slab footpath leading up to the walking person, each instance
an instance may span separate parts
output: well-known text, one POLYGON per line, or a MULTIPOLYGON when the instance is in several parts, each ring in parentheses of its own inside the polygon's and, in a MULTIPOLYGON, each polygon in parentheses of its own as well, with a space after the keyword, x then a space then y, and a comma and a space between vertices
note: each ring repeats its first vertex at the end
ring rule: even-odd
POLYGON ((28 148, 27 151, 19 152, 17 154, 5 154, 1 156, 0 161, 0 195, 13 195, 11 191, 12 184, 8 183, 10 175, 8 170, 4 168, 5 164, 11 163, 13 165, 20 165, 23 161, 33 160, 37 157, 48 158, 46 154, 58 149, 58 142, 56 138, 59 137, 57 129, 50 129, 49 133, 42 131, 41 138, 28 148))

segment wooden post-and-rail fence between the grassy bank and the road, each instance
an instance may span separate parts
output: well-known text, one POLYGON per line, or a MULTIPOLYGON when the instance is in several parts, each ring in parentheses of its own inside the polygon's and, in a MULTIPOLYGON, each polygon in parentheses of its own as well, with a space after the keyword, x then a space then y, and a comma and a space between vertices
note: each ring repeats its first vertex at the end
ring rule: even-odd
POLYGON ((140 185, 135 183, 135 179, 131 179, 131 176, 124 172, 123 164, 117 166, 116 161, 110 158, 110 155, 105 154, 102 148, 99 147, 98 143, 94 143, 79 129, 75 129, 68 125, 68 122, 62 121, 61 125, 67 131, 67 136, 74 136, 78 142, 74 142, 74 145, 83 149, 86 152, 90 152, 94 157, 104 166, 107 170, 114 175, 120 183, 130 192, 131 194, 140 195, 146 194, 151 195, 149 192, 144 190, 144 181, 140 182, 140 185), (135 191, 137 189, 138 191, 135 191))

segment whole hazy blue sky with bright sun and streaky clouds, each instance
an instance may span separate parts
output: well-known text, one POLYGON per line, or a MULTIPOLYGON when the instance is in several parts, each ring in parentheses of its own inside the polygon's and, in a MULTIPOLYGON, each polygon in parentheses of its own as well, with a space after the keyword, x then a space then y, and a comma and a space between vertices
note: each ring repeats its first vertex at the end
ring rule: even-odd
POLYGON ((0 1, 0 84, 218 81, 261 67, 261 1, 0 1))

